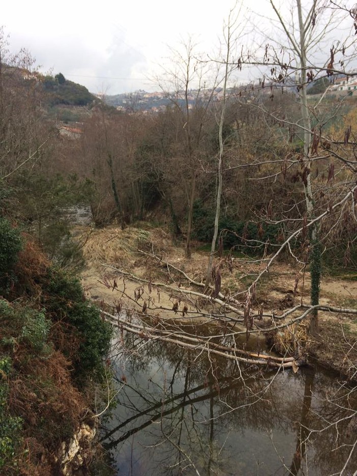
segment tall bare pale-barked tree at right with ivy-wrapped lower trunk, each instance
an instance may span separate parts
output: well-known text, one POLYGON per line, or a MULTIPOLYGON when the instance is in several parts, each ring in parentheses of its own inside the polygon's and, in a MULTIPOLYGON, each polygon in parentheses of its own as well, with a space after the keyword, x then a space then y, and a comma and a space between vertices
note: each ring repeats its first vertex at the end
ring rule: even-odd
MULTIPOLYGON (((321 210, 326 206, 326 200, 319 197, 321 187, 316 186, 317 180, 312 173, 318 174, 318 163, 331 161, 330 146, 326 142, 326 130, 329 122, 319 122, 319 106, 321 98, 315 103, 308 100, 308 86, 321 77, 333 77, 334 74, 344 72, 344 56, 347 57, 348 47, 352 49, 350 31, 345 38, 336 38, 336 25, 346 21, 350 15, 348 11, 332 8, 326 2, 312 0, 303 3, 301 0, 284 4, 280 8, 273 0, 270 5, 275 14, 274 25, 278 26, 275 37, 267 38, 269 43, 264 48, 263 58, 257 61, 263 68, 269 68, 269 73, 264 73, 260 86, 269 87, 270 98, 283 93, 284 88, 294 88, 297 93, 296 100, 300 105, 299 116, 288 117, 285 111, 274 115, 274 120, 285 129, 287 137, 295 134, 303 145, 302 152, 297 160, 300 162, 300 171, 295 173, 297 181, 301 181, 305 196, 305 214, 302 222, 310 223, 309 229, 309 262, 311 269, 311 305, 319 303, 319 287, 321 279, 321 236, 319 233, 320 222, 316 220, 321 210), (328 53, 323 51, 322 45, 329 44, 328 53), (337 66, 336 66, 337 64, 337 66), (267 82, 270 84, 266 84, 267 82), (328 147, 325 147, 328 145, 328 147), (315 182, 315 184, 313 183, 315 182)), ((336 6, 336 4, 334 4, 336 6)), ((349 57, 350 59, 350 57, 349 57)), ((259 87, 258 87, 259 89, 259 87)), ((262 112, 269 114, 261 103, 257 104, 262 112)), ((330 117, 331 120, 331 117, 330 117)), ((336 157, 336 155, 335 155, 336 157)), ((342 164, 345 167, 346 164, 342 164)), ((285 176, 285 169, 280 173, 285 176)), ((333 167, 333 166, 332 166, 333 167)), ((330 169, 330 180, 331 180, 330 169)), ((348 194, 352 182, 346 187, 341 184, 342 195, 348 194)), ((331 196, 331 194, 330 194, 331 196)), ((339 193, 335 194, 336 202, 341 199, 339 193)), ((332 206, 333 200, 330 202, 332 206)), ((318 333, 317 310, 311 313, 310 331, 318 333)))

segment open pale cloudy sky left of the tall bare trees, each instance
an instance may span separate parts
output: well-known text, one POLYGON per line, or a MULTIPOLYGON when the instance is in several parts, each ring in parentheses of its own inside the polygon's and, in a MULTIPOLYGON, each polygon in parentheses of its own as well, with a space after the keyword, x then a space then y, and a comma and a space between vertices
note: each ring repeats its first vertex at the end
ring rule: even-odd
POLYGON ((218 47, 234 0, 15 0, 2 5, 10 49, 26 48, 43 73, 59 72, 92 93, 159 90, 153 78, 189 35, 218 47))

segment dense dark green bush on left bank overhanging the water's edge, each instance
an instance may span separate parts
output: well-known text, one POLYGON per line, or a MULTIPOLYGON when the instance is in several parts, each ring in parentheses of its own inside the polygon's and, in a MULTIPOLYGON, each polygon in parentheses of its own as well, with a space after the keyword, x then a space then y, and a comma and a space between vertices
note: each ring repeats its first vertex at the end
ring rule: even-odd
POLYGON ((76 376, 84 379, 87 373, 99 375, 110 347, 110 324, 101 319, 97 307, 85 300, 77 278, 55 269, 49 270, 47 278, 44 306, 54 319, 72 326, 80 342, 74 362, 76 376))

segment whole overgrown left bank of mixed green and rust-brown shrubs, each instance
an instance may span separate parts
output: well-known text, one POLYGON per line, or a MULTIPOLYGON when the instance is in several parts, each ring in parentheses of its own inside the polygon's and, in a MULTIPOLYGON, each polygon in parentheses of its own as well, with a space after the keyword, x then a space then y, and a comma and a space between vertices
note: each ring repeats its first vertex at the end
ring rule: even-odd
POLYGON ((19 253, 5 219, 0 236, 0 276, 11 277, 0 299, 0 474, 53 474, 51 457, 90 407, 78 385, 101 377, 111 326, 31 240, 19 253))

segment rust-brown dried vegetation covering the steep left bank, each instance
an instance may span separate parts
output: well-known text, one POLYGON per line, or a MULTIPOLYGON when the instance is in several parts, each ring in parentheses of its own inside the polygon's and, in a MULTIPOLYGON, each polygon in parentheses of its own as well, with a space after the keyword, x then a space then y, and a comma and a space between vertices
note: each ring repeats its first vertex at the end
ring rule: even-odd
POLYGON ((53 322, 48 336, 38 327, 43 317, 39 314, 37 321, 36 313, 43 312, 46 302, 48 267, 48 259, 27 236, 16 265, 18 281, 7 296, 13 303, 2 299, 2 365, 11 362, 10 373, 2 371, 2 384, 8 388, 6 412, 20 418, 22 427, 13 465, 11 460, 5 464, 9 475, 53 474, 61 464, 62 442, 72 437, 91 407, 90 386, 84 396, 73 378, 78 337, 70 339, 65 322, 53 322))

